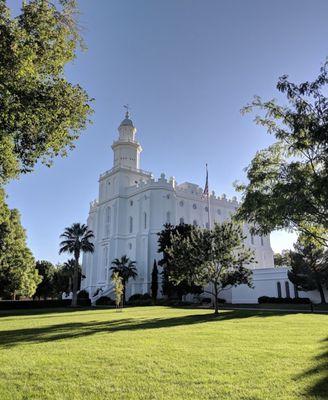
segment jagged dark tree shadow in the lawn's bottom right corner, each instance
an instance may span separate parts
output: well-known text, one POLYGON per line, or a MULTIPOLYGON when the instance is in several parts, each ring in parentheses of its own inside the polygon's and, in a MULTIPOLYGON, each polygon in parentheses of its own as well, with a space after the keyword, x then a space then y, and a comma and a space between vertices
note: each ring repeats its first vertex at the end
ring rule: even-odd
POLYGON ((306 394, 316 399, 328 399, 328 337, 321 341, 322 353, 314 357, 315 366, 297 378, 311 376, 315 382, 307 390, 306 394), (315 375, 320 374, 319 379, 315 375))

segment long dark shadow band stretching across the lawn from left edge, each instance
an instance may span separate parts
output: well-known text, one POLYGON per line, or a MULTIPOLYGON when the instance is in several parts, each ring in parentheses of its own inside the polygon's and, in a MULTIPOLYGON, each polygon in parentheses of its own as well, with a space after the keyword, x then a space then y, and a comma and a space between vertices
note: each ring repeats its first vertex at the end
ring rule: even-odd
MULTIPOLYGON (((219 315, 197 314, 172 318, 135 319, 121 318, 108 321, 70 322, 42 327, 0 331, 0 349, 21 344, 36 344, 57 340, 76 339, 97 333, 115 333, 119 331, 137 331, 147 329, 172 328, 226 320, 238 320, 249 317, 269 317, 284 315, 274 312, 226 311, 219 315)), ((218 326, 219 328, 219 326, 218 326)))

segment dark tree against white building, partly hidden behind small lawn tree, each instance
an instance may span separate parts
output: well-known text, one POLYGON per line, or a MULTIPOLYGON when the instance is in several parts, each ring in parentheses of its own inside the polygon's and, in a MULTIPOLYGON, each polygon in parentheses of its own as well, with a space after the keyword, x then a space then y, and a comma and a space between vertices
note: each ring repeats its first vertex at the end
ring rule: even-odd
POLYGON ((165 224, 164 229, 158 233, 158 253, 163 255, 163 258, 158 262, 158 265, 163 268, 161 272, 162 292, 168 297, 178 297, 179 300, 182 300, 182 296, 188 293, 200 294, 203 292, 203 288, 193 282, 182 280, 177 284, 169 279, 171 271, 175 269, 175 264, 166 248, 171 247, 173 236, 179 234, 180 237, 188 238, 195 229, 195 226, 190 224, 165 224))

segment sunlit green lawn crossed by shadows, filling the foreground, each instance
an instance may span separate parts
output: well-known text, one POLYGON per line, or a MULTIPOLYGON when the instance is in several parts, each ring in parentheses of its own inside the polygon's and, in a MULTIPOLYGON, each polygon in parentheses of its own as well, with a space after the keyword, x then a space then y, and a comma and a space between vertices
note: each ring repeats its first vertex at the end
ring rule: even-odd
POLYGON ((328 316, 166 307, 0 314, 0 399, 328 399, 328 316))

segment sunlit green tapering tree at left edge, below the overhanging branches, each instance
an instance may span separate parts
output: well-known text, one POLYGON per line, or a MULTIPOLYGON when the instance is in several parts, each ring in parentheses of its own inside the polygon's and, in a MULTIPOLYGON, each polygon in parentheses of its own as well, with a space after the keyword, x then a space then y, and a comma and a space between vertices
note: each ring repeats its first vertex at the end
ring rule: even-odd
POLYGON ((41 280, 19 212, 8 208, 0 189, 0 296, 32 296, 41 280))

